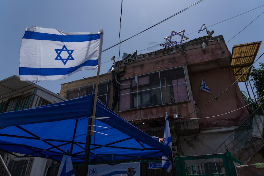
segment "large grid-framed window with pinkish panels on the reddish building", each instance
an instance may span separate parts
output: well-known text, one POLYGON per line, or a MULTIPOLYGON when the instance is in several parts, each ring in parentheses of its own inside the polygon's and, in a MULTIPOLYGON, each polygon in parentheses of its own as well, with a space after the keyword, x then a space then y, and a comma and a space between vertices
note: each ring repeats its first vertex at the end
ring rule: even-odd
POLYGON ((184 67, 120 80, 118 111, 189 101, 184 67))

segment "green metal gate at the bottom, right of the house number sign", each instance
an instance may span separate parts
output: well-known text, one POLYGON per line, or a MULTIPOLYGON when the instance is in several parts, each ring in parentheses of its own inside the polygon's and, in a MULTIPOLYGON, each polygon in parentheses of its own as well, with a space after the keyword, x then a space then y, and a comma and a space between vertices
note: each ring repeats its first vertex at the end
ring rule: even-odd
POLYGON ((226 148, 225 153, 220 154, 179 156, 177 153, 176 155, 177 176, 236 176, 233 161, 243 165, 243 163, 232 157, 231 152, 228 152, 228 148, 226 148))

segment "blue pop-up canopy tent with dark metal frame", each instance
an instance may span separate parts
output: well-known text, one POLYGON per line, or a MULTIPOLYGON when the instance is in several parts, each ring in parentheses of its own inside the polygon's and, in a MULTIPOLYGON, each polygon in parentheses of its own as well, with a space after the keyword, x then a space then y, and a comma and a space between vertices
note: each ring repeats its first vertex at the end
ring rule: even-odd
MULTIPOLYGON (((41 107, 0 113, 0 149, 61 161, 68 146, 74 163, 83 162, 94 94, 41 107)), ((171 149, 96 103, 90 161, 170 156, 171 149), (106 127, 106 128, 103 128, 106 127), (99 132, 99 133, 98 133, 99 132)))

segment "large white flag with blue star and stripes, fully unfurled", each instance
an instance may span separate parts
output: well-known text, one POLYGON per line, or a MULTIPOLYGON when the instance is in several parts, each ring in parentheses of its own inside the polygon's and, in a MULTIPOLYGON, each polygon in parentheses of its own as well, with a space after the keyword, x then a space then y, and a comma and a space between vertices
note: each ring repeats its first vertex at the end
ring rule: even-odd
POLYGON ((25 30, 19 49, 21 81, 59 80, 100 66, 103 29, 98 33, 37 26, 25 30))

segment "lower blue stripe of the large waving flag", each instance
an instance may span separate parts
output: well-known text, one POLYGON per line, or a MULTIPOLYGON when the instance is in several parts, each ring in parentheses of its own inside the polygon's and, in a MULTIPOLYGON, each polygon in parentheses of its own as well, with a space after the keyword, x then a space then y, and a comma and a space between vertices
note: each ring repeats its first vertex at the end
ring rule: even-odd
POLYGON ((40 75, 40 76, 52 76, 52 75, 66 75, 70 74, 83 66, 97 66, 97 60, 88 60, 78 66, 70 68, 28 68, 20 67, 19 75, 40 75))

